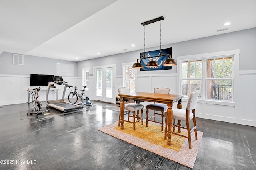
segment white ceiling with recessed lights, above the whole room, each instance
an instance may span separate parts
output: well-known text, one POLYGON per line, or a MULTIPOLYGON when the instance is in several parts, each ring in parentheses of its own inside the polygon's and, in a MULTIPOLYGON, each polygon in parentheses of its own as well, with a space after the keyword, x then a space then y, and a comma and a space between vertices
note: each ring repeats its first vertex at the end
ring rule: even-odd
MULTIPOLYGON (((0 0, 0 53, 82 61, 141 50, 141 23, 160 16, 167 45, 256 27, 256 0, 0 0)), ((159 28, 146 25, 146 48, 160 46, 159 28)))

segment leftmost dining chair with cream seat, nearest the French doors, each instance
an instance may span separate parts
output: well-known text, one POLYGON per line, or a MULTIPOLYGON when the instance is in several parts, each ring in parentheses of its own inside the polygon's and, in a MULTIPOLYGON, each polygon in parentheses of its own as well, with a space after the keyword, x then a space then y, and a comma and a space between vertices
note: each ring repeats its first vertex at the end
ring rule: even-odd
MULTIPOLYGON (((127 87, 118 88, 118 93, 119 94, 130 93, 130 88, 127 88, 127 87)), ((135 123, 141 121, 141 125, 143 125, 143 107, 144 107, 143 104, 138 104, 138 103, 124 104, 124 109, 128 110, 128 112, 124 114, 124 115, 128 114, 127 120, 124 119, 124 121, 133 123, 133 130, 135 130, 135 123), (139 110, 141 110, 141 117, 139 116, 139 110), (132 115, 130 115, 130 111, 132 111, 132 115), (135 115, 135 112, 137 112, 137 115, 135 115), (133 117, 133 121, 130 121, 129 117, 133 117)), ((118 126, 120 126, 120 119, 121 119, 121 111, 119 112, 118 126)))

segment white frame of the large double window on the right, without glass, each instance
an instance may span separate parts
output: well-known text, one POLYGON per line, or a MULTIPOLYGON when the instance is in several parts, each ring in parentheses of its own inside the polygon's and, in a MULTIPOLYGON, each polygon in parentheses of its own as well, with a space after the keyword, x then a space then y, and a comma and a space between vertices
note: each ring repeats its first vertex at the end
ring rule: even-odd
MULTIPOLYGON (((196 55, 186 55, 186 56, 178 56, 177 57, 177 90, 179 94, 182 94, 182 61, 194 61, 194 60, 200 60, 202 59, 202 98, 198 99, 201 102, 204 103, 211 103, 211 104, 223 104, 223 105, 231 105, 234 106, 235 102, 238 102, 239 98, 236 98, 239 94, 239 54, 240 50, 230 50, 230 51, 219 51, 219 52, 213 52, 213 53, 202 53, 202 54, 196 54, 196 55), (206 59, 213 59, 213 58, 220 58, 220 57, 228 57, 228 56, 234 56, 233 57, 233 84, 232 84, 232 101, 228 100, 212 100, 207 99, 207 76, 206 76, 206 59), (205 71, 204 71, 205 70, 205 71)), ((187 100, 186 97, 184 97, 185 100, 187 100)))

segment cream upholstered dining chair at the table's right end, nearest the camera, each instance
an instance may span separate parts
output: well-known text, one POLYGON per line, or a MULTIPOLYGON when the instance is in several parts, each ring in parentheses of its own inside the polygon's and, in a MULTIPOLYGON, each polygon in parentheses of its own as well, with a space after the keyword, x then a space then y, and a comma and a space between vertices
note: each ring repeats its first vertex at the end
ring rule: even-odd
MULTIPOLYGON (((184 109, 173 109, 173 125, 172 125, 172 134, 174 135, 179 135, 185 138, 188 138, 188 147, 191 149, 191 133, 194 131, 195 132, 195 137, 197 140, 197 131, 196 131, 196 117, 195 117, 195 109, 196 109, 196 103, 198 96, 200 94, 200 91, 197 90, 195 92, 192 92, 189 95, 188 98, 188 104, 186 110, 184 109), (175 120, 178 120, 177 125, 175 125, 175 120), (190 129, 190 120, 193 120, 194 127, 190 129), (186 127, 182 127, 181 121, 186 121, 186 127), (175 127, 178 127, 178 131, 175 132, 175 127), (188 136, 180 134, 180 128, 187 129, 188 131, 188 136)), ((164 114, 166 117, 166 113, 164 114)), ((166 137, 167 133, 167 123, 165 119, 165 134, 164 134, 164 139, 167 139, 166 137)))

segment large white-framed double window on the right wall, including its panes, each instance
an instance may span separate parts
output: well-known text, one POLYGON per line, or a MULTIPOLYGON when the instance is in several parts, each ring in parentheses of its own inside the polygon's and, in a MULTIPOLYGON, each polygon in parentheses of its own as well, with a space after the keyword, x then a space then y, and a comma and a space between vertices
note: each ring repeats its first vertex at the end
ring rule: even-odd
POLYGON ((234 101, 235 58, 239 51, 223 51, 177 57, 180 63, 180 92, 188 97, 200 90, 202 100, 234 101), (234 53, 237 52, 237 53, 234 53))

